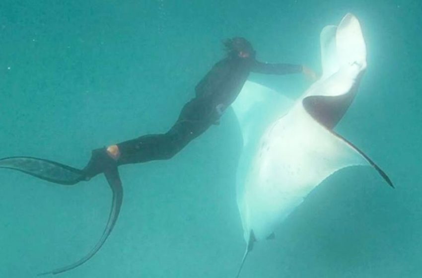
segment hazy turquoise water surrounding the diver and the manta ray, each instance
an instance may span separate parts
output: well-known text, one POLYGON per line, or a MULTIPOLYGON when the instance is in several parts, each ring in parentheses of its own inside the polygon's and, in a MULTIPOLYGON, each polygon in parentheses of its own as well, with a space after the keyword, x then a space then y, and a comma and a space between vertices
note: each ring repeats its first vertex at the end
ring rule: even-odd
MULTIPOLYGON (((248 257, 242 278, 421 277, 422 3, 392 1, 3 0, 0 157, 82 167, 90 150, 166 131, 194 86, 251 40, 258 58, 320 70, 319 32, 360 20, 368 70, 337 131, 392 178, 349 168, 323 182, 248 257), (333 3, 334 2, 334 3, 333 3)), ((301 76, 251 75, 297 97, 301 76)), ((240 133, 233 114, 170 161, 121 169, 121 215, 103 248, 63 278, 234 277, 244 252, 235 202, 240 133)), ((100 237, 111 192, 0 171, 0 277, 72 263, 100 237)))

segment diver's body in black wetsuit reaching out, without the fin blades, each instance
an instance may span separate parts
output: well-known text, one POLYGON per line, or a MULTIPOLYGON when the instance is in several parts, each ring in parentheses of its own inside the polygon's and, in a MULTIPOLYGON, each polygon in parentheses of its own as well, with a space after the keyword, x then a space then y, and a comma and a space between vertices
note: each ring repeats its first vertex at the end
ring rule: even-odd
POLYGON ((255 59, 250 42, 235 37, 224 42, 227 57, 219 61, 198 83, 196 97, 182 109, 179 119, 165 134, 146 135, 107 148, 95 149, 84 168, 86 179, 102 173, 108 167, 169 159, 215 124, 236 99, 250 72, 290 74, 303 72, 315 78, 315 73, 301 65, 267 64, 255 59))

